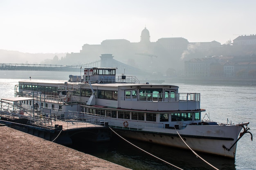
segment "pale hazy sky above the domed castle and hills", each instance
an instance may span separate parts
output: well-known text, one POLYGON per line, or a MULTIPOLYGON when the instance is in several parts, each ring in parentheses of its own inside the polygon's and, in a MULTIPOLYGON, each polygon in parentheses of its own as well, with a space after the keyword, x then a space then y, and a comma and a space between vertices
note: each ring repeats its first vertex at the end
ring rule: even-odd
POLYGON ((256 0, 0 0, 0 49, 79 52, 107 39, 224 44, 256 34, 256 0))

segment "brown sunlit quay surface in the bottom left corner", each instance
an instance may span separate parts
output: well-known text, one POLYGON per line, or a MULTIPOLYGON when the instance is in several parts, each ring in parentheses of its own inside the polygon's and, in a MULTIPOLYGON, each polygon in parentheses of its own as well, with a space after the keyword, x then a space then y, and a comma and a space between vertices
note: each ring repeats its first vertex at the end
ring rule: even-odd
POLYGON ((1 170, 130 170, 2 124, 0 148, 1 170))

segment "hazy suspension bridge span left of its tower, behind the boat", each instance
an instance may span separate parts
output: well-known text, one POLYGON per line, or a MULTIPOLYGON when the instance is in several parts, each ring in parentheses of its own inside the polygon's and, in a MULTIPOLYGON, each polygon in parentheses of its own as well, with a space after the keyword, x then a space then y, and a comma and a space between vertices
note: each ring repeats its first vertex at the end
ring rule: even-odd
POLYGON ((95 61, 73 66, 57 64, 0 64, 0 70, 80 72, 81 68, 91 68, 94 66, 98 66, 99 63, 99 61, 95 61))

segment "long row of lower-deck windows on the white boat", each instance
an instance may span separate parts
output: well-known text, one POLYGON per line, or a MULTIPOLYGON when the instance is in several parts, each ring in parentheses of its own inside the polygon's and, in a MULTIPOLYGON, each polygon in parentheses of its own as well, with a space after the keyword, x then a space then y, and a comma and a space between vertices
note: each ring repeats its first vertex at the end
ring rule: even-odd
MULTIPOLYGON (((156 113, 140 113, 140 112, 128 112, 128 111, 116 111, 116 110, 105 110, 105 109, 93 109, 89 108, 88 113, 108 116, 119 119, 132 119, 141 121, 157 121, 156 113)), ((192 113, 161 113, 159 114, 159 121, 192 121, 192 113), (171 117, 169 117, 171 115, 171 117)), ((200 120, 200 113, 195 113, 194 120, 200 120)))

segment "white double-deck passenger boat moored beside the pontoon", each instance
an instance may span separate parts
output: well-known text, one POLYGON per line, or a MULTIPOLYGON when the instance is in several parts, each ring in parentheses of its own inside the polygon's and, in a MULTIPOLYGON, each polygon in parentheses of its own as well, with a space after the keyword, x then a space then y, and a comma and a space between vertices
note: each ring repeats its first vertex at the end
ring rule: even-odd
POLYGON ((30 105, 36 104, 38 110, 61 109, 63 119, 70 111, 101 117, 122 137, 184 149, 187 144, 195 151, 230 158, 235 158, 237 141, 249 132, 249 122, 202 120, 200 93, 179 93, 178 86, 167 84, 141 84, 136 77, 116 76, 116 68, 85 68, 83 79, 20 81, 17 96, 40 94, 30 105))

